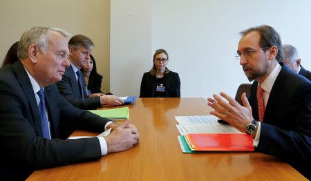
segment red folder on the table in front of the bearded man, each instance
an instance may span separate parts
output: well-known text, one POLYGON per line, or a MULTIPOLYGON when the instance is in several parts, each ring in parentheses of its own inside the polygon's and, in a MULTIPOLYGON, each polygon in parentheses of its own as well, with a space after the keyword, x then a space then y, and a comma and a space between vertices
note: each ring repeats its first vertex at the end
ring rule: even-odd
POLYGON ((254 151, 253 138, 244 133, 185 134, 193 151, 254 151))

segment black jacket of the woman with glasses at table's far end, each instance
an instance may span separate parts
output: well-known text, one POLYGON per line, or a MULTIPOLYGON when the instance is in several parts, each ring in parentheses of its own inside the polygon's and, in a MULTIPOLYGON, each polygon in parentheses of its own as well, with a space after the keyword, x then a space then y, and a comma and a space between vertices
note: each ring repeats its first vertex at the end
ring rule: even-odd
MULTIPOLYGON (((166 97, 180 97, 180 79, 178 73, 169 71, 164 74, 166 97)), ((156 76, 151 73, 144 73, 140 84, 140 97, 155 97, 156 76)))

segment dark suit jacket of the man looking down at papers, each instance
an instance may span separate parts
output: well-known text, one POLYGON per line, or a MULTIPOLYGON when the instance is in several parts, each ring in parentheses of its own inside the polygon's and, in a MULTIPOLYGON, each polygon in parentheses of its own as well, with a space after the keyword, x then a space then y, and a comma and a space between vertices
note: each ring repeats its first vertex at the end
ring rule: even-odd
MULTIPOLYGON (((61 93, 61 95, 63 95, 68 102, 73 104, 73 106, 86 110, 96 109, 102 106, 102 104, 100 104, 100 97, 80 99, 77 79, 75 78, 75 72, 73 71, 73 67, 71 65, 66 68, 63 79, 56 84, 59 93, 61 93)), ((82 82, 82 84, 84 84, 83 87, 85 88, 85 82, 82 82)), ((84 97, 87 97, 85 93, 84 97)))

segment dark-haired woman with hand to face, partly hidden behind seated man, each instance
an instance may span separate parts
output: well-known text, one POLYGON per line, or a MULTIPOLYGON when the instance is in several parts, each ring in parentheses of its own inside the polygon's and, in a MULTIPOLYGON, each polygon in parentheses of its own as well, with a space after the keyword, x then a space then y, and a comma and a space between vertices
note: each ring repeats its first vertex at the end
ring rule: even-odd
POLYGON ((96 62, 93 55, 90 55, 90 58, 91 59, 88 59, 86 64, 82 65, 82 73, 84 75, 88 95, 93 93, 102 93, 102 75, 97 73, 96 62))

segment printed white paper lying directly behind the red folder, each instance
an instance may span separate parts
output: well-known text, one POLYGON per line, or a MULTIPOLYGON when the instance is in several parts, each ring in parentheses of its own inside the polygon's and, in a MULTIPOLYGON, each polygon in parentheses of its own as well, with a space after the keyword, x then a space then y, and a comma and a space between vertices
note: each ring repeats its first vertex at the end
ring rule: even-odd
POLYGON ((185 133, 241 133, 229 124, 176 124, 180 134, 185 133))

